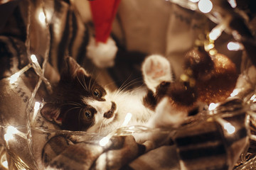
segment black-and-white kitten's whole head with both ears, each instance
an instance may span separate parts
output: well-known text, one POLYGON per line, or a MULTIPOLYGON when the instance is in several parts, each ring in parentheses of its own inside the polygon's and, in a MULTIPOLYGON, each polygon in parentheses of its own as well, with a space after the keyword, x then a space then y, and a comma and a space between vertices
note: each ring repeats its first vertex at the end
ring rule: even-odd
POLYGON ((97 132, 117 117, 117 105, 107 91, 70 57, 54 93, 41 114, 64 130, 97 132))

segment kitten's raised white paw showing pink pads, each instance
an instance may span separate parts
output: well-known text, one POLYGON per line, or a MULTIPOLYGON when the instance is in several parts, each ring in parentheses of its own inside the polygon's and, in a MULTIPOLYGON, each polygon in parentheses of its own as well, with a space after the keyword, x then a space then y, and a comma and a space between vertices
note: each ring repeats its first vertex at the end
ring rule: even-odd
POLYGON ((150 55, 142 64, 142 74, 146 86, 152 91, 156 91, 156 86, 162 81, 172 81, 171 65, 169 61, 161 55, 150 55))

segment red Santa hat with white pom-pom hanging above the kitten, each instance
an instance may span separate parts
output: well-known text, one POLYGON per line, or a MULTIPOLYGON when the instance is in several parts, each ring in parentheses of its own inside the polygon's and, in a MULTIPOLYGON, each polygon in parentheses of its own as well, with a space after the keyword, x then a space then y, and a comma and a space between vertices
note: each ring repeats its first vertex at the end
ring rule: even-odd
POLYGON ((94 0, 90 1, 92 21, 95 26, 95 38, 90 38, 87 46, 87 56, 97 67, 111 67, 117 46, 110 38, 112 23, 121 0, 94 0))

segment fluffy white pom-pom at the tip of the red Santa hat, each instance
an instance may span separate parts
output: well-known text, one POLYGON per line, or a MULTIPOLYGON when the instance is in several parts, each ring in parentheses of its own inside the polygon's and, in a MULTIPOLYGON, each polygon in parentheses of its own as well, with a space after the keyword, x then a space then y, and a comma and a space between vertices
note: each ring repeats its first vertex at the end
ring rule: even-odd
POLYGON ((108 38, 107 42, 96 42, 95 38, 90 38, 87 46, 87 57, 100 68, 112 67, 114 58, 117 54, 117 46, 112 38, 108 38))

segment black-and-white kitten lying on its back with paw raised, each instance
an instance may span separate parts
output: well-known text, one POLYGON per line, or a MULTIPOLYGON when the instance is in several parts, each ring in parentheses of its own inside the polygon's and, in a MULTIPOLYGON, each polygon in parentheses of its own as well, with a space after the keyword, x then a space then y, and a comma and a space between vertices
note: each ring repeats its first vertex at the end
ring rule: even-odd
POLYGON ((159 55, 147 57, 142 64, 142 73, 149 89, 112 92, 97 84, 73 58, 67 57, 60 81, 53 96, 41 109, 41 115, 63 130, 100 135, 120 128, 127 113, 132 113, 128 125, 149 128, 179 125, 186 113, 179 111, 171 115, 169 97, 165 97, 166 89, 173 81, 168 60, 159 55))

